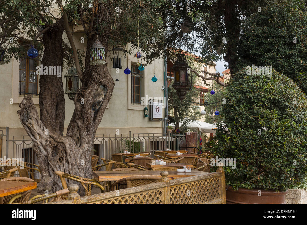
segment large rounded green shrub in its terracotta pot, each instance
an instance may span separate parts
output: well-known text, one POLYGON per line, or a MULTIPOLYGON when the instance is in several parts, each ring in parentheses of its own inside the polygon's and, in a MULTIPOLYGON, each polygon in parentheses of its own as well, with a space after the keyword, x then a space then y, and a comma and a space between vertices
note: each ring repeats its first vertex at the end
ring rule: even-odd
POLYGON ((226 88, 212 151, 236 159, 225 167, 226 202, 283 204, 287 189, 306 177, 307 100, 285 75, 240 70, 226 88), (228 129, 228 131, 225 130, 228 129))

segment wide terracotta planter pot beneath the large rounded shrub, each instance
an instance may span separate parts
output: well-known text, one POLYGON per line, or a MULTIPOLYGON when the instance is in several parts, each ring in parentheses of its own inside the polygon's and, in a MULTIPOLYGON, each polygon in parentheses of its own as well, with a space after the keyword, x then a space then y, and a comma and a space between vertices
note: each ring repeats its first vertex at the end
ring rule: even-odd
POLYGON ((288 190, 261 190, 261 196, 258 196, 258 189, 239 188, 235 191, 226 185, 226 204, 286 204, 287 193, 288 190))

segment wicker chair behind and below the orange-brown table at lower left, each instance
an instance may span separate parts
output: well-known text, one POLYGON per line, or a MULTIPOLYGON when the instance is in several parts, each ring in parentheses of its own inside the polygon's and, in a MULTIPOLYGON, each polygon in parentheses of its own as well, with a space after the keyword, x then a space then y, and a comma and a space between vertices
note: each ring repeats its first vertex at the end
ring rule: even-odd
MULTIPOLYGON (((2 181, 14 181, 14 182, 34 182, 32 179, 27 177, 10 177, 0 180, 2 181)), ((11 204, 11 203, 21 203, 28 201, 32 190, 27 190, 21 193, 15 193, 8 196, 0 197, 0 204, 11 204)))

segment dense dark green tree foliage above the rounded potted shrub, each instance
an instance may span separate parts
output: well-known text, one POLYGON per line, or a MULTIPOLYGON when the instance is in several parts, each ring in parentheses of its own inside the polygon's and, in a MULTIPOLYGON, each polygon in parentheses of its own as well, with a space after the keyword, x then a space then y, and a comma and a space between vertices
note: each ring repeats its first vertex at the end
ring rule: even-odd
POLYGON ((247 19, 242 33, 237 70, 252 64, 272 66, 307 93, 307 13, 300 1, 262 8, 247 19))

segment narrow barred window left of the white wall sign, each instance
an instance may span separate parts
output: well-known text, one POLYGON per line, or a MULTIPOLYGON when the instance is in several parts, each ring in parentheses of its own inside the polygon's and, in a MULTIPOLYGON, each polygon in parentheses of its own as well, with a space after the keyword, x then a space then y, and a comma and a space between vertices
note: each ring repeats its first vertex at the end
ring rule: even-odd
POLYGON ((138 66, 131 64, 131 103, 141 104, 142 72, 138 66))

